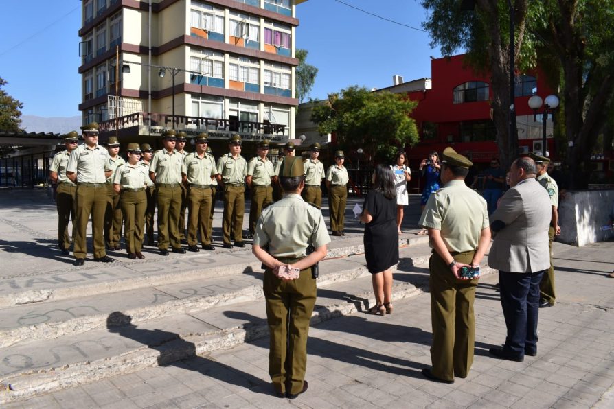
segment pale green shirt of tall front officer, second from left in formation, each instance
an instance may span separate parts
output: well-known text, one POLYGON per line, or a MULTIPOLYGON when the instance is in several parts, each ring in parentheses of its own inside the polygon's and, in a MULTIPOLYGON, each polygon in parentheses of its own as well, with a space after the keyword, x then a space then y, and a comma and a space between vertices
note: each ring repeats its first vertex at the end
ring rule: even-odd
POLYGON ((109 152, 100 145, 90 149, 83 143, 70 152, 66 172, 74 172, 77 183, 106 183, 107 170, 111 170, 109 152))

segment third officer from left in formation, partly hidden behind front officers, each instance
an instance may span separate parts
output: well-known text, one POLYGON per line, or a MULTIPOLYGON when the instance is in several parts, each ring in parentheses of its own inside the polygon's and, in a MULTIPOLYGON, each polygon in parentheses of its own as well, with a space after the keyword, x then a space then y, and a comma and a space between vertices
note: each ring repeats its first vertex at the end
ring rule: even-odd
POLYGON ((109 167, 111 176, 106 178, 106 211, 104 213, 104 242, 109 250, 120 250, 120 238, 122 237, 122 209, 120 207, 120 195, 113 189, 113 174, 117 167, 124 165, 126 161, 120 156, 120 141, 117 137, 109 137, 106 143, 109 151, 109 167))

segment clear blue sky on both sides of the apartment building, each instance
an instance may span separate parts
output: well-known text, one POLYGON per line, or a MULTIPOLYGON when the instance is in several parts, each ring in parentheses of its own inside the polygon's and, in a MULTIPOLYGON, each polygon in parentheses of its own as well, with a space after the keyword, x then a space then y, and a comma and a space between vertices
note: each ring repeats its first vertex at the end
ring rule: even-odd
MULTIPOLYGON (((297 47, 309 51, 319 69, 310 97, 358 84, 371 89, 431 76, 430 49, 422 29, 426 12, 416 0, 308 0, 297 6, 297 47), (397 24, 400 23, 400 24, 397 24)), ((79 115, 81 78, 78 56, 81 25, 78 0, 2 1, 0 77, 5 90, 23 102, 23 115, 79 115)))

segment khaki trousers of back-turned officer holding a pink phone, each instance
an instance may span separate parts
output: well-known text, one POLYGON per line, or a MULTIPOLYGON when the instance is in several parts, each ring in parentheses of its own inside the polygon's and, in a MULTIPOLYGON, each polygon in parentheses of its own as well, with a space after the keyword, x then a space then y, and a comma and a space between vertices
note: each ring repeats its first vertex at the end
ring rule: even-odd
MULTIPOLYGON (((295 262, 295 261, 284 261, 295 262)), ((315 305, 316 284, 311 268, 293 281, 264 271, 266 321, 269 323, 269 375, 277 392, 299 393, 307 369, 307 337, 315 305)))

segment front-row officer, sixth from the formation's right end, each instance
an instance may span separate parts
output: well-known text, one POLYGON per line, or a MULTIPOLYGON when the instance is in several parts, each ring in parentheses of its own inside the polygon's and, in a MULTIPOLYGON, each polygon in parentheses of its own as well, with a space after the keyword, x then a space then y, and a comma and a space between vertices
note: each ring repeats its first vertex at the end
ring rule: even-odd
POLYGON ((187 218, 187 250, 198 252, 198 231, 201 232, 201 244, 205 250, 215 250, 211 245, 211 229, 209 217, 211 216, 212 189, 217 174, 216 163, 212 155, 207 154, 209 141, 207 134, 202 132, 196 137, 196 152, 192 152, 183 159, 181 174, 187 184, 189 194, 187 203, 189 208, 187 218))

